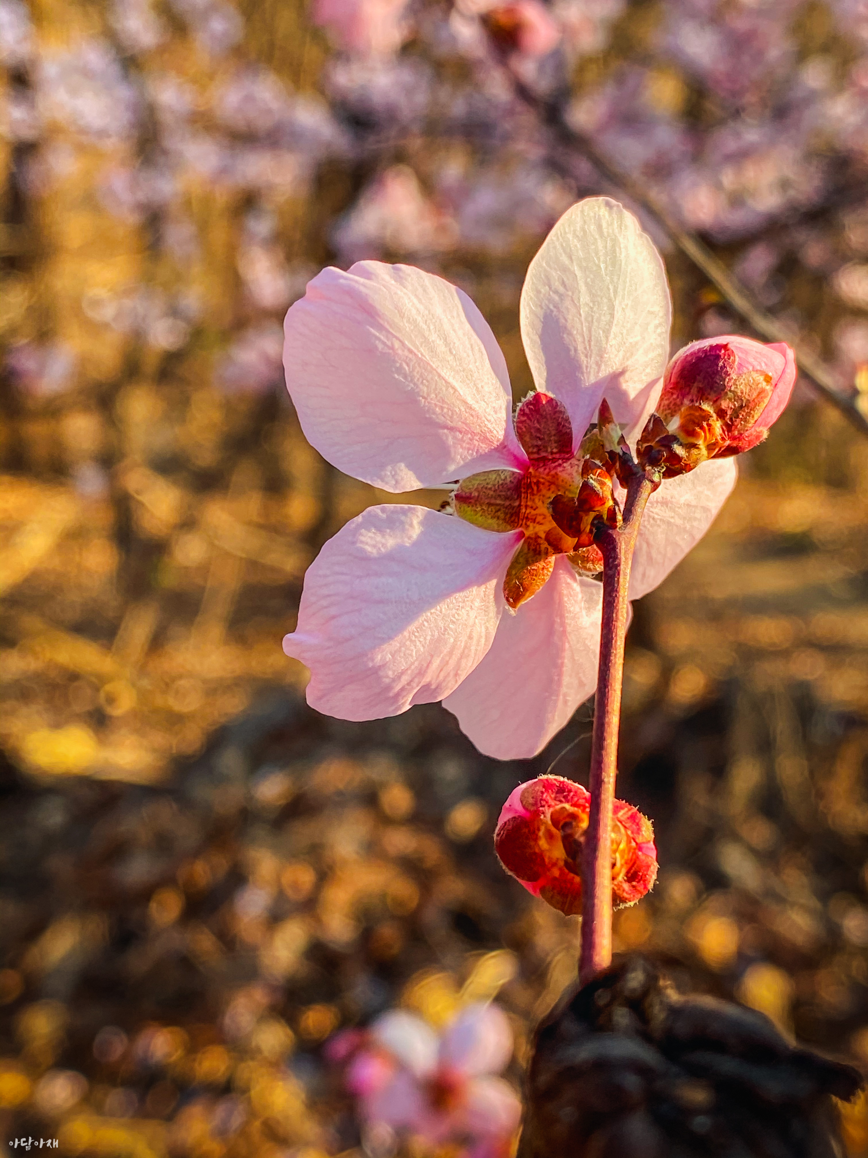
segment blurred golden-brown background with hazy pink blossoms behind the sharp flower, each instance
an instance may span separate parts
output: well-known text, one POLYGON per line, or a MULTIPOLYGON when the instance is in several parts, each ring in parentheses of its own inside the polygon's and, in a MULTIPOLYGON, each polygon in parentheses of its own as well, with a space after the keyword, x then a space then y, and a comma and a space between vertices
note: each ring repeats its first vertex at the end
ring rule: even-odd
MULTIPOLYGON (((323 1043, 496 999, 518 1087, 578 929, 491 837, 520 780, 586 779, 590 706, 515 763, 439 705, 307 709, 280 648, 304 569, 391 499, 304 441, 280 322, 324 264, 407 261, 475 298, 523 396, 527 264, 620 193, 517 76, 868 413, 868 3, 0 0, 0 1133, 507 1155, 380 1129, 323 1043)), ((631 207, 675 345, 743 330, 631 207)), ((867 529, 868 440, 800 383, 635 607, 619 796, 662 868, 616 921, 677 985, 866 1068, 867 529)), ((868 1105, 844 1115, 868 1155, 868 1105)))

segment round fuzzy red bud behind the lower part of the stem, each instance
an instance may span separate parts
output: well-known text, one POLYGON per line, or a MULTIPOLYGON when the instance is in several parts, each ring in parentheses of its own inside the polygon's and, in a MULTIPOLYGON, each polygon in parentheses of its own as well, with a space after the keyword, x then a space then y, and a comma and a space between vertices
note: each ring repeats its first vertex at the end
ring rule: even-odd
MULTIPOLYGON (((500 813, 494 851, 508 873, 568 916, 582 908, 582 844, 590 794, 562 776, 538 776, 520 784, 500 813)), ((625 800, 615 801, 612 892, 633 904, 657 875, 650 821, 625 800)))

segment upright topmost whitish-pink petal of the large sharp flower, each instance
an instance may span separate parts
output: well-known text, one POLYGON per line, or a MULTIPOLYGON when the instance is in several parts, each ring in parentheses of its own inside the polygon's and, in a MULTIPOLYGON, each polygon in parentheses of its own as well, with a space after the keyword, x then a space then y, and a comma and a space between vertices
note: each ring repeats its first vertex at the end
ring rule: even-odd
POLYGON ((671 316, 663 262, 633 214, 608 197, 568 208, 530 263, 521 325, 537 389, 567 406, 576 446, 603 395, 628 435, 645 425, 671 316))

